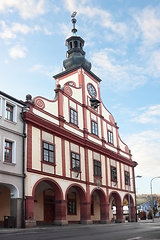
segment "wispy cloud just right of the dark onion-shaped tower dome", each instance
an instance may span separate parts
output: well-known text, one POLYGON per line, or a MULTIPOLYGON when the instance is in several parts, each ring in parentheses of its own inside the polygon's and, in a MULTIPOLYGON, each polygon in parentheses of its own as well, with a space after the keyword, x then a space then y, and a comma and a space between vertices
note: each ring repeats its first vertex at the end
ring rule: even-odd
POLYGON ((91 62, 94 72, 102 79, 107 79, 105 84, 114 91, 130 90, 144 85, 147 81, 143 75, 143 67, 128 63, 120 58, 118 52, 102 49, 92 53, 91 62))

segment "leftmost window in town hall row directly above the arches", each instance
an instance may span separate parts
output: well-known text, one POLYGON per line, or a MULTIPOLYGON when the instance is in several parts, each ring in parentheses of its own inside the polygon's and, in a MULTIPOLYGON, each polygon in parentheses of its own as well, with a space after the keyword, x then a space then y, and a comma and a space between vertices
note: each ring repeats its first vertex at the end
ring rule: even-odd
POLYGON ((54 145, 43 142, 43 161, 54 163, 54 145))

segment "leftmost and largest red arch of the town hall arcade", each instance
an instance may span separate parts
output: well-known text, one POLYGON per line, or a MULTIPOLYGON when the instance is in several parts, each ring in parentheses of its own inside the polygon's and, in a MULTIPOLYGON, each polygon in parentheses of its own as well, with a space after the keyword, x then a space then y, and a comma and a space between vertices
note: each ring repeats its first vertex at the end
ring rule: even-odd
POLYGON ((62 189, 55 180, 39 179, 34 184, 32 196, 26 196, 26 220, 35 220, 35 224, 67 224, 63 196, 62 189))

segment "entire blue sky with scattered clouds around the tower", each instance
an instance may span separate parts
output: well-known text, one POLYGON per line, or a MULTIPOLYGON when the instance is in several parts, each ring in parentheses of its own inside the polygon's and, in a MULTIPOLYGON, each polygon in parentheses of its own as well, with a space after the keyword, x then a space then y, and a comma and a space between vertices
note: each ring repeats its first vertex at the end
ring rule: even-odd
POLYGON ((160 1, 0 0, 0 90, 21 100, 54 98, 65 40, 85 40, 102 79, 101 99, 129 146, 137 194, 160 194, 160 1))

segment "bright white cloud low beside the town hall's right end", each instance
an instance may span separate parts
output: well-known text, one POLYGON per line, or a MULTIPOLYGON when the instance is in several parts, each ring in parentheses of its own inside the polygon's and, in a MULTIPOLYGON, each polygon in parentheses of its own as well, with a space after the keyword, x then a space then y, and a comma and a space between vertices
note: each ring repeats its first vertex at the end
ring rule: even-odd
MULTIPOLYGON (((124 136, 123 136, 124 139, 124 136)), ((160 163, 160 131, 144 131, 125 137, 131 149, 133 160, 138 162, 136 174, 143 176, 159 176, 160 163)))

